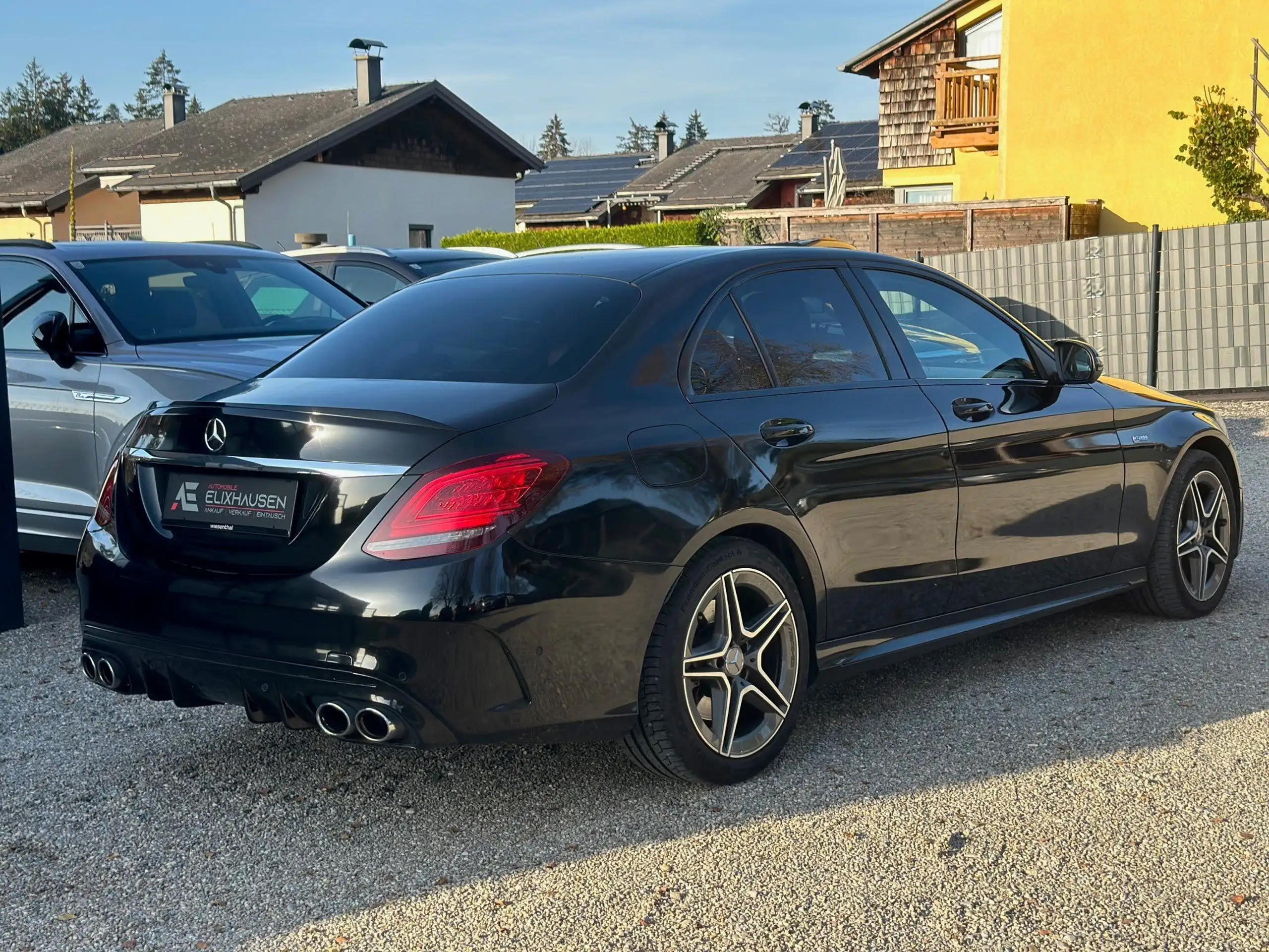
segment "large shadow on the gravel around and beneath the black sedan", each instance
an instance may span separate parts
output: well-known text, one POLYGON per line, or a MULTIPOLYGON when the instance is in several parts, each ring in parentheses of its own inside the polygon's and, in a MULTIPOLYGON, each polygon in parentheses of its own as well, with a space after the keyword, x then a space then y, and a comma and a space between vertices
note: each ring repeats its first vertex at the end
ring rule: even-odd
MULTIPOLYGON (((220 923, 225 944, 264 942, 448 883, 1166 745, 1261 711, 1269 565, 1265 487, 1250 473, 1269 453, 1261 420, 1230 423, 1251 512, 1233 584, 1209 618, 1165 622, 1108 603, 825 685, 775 767, 727 790, 647 777, 609 745, 379 750, 81 684, 62 729, 94 743, 60 751, 48 737, 4 737, 22 762, 0 770, 9 823, 53 839, 42 848, 58 862, 5 857, 0 843, 0 869, 37 890, 27 911, 41 922, 69 904, 61 871, 74 872, 84 928, 100 918, 84 938, 103 947, 193 934, 194 922, 220 923), (67 835, 37 815, 55 796, 67 835), (119 859, 104 862, 108 853, 119 859), (227 891, 233 908, 213 906, 227 891)), ((39 572, 55 570, 29 567, 38 592, 39 572)), ((72 658, 71 635, 63 626, 42 650, 72 658)), ((0 642, 0 659, 9 654, 0 642)))

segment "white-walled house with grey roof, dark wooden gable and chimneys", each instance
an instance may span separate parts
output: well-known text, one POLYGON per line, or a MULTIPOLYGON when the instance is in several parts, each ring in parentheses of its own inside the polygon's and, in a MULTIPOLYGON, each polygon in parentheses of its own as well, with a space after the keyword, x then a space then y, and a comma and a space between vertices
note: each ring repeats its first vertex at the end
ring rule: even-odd
POLYGON ((438 81, 382 85, 382 43, 350 46, 354 89, 231 99, 190 117, 184 90, 169 89, 152 135, 76 164, 135 197, 155 241, 277 250, 319 234, 402 248, 510 231, 515 180, 542 160, 438 81))

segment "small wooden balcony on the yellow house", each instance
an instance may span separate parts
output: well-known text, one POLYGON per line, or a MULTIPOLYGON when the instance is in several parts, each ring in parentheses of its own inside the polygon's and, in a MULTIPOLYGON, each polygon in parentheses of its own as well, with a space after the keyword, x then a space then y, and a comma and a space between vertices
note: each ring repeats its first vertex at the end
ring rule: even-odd
POLYGON ((999 56, 959 57, 935 65, 930 146, 999 149, 999 56))

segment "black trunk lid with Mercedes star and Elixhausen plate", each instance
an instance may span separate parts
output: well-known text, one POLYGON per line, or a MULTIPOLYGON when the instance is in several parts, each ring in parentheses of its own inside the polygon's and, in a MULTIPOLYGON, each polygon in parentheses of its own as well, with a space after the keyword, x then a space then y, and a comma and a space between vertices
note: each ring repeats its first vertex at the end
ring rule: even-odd
POLYGON ((311 571, 434 449, 555 397, 555 385, 264 377, 155 409, 121 470, 121 548, 183 570, 311 571))

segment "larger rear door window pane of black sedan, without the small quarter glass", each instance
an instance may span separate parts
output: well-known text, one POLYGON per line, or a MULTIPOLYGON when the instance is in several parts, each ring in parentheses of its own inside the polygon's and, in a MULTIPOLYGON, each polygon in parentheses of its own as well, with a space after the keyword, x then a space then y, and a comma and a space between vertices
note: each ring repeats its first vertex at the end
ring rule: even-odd
POLYGON ((863 315, 831 268, 764 274, 732 296, 782 387, 886 380, 863 315))

